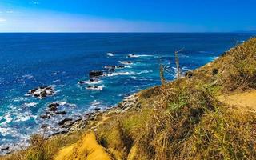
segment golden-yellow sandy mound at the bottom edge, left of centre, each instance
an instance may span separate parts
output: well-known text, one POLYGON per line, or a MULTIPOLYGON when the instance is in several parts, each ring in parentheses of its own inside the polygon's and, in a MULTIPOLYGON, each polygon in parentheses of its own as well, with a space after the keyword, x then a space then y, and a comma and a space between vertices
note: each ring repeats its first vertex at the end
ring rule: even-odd
POLYGON ((86 134, 74 145, 59 151, 54 160, 111 160, 104 148, 96 141, 93 133, 86 134))

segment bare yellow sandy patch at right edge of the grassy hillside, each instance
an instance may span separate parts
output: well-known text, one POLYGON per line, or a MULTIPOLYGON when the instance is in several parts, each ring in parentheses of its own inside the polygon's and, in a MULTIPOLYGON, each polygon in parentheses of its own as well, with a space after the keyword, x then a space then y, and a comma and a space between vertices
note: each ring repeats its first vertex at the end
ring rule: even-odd
POLYGON ((256 110, 256 90, 224 95, 219 97, 219 100, 237 108, 256 110))

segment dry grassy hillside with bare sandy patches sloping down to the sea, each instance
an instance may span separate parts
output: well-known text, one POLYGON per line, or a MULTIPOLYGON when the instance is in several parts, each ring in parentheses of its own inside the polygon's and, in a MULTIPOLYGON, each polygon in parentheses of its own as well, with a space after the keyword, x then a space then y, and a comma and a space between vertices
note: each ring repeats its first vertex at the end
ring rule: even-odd
POLYGON ((255 89, 251 38, 184 78, 142 90, 125 112, 106 111, 84 130, 47 140, 34 136, 29 149, 0 159, 255 159, 255 89))

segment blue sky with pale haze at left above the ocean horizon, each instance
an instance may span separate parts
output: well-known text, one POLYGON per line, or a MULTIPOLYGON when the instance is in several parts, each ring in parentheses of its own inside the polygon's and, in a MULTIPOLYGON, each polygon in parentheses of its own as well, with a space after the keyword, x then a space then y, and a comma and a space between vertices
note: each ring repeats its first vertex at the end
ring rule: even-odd
POLYGON ((0 32, 256 30, 255 0, 0 0, 0 32))

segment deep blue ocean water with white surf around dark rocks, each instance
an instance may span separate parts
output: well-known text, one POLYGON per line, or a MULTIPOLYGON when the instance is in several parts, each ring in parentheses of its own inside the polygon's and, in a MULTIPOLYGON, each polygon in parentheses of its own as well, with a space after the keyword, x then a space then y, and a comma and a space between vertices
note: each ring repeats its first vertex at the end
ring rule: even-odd
MULTIPOLYGON (((182 71, 218 58, 225 50, 255 34, 0 34, 0 146, 28 142, 44 123, 50 102, 61 102, 68 117, 95 107, 113 106, 126 95, 160 84, 159 63, 174 66, 174 50, 182 71), (106 53, 114 53, 114 57, 106 53), (127 58, 136 54, 136 58, 127 58), (101 77, 102 90, 86 90, 90 70, 132 61, 101 77), (53 86, 54 96, 28 97, 28 90, 53 86)), ((174 74, 168 74, 168 79, 174 74)))

